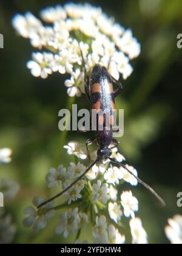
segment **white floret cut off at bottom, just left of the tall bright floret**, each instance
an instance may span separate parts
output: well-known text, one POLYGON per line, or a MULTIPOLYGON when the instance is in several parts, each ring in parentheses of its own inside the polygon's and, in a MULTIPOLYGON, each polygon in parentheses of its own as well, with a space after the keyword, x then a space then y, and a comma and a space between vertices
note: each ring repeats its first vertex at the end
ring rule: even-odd
POLYGON ((113 225, 108 227, 108 238, 110 244, 124 244, 126 240, 125 236, 121 235, 113 225))

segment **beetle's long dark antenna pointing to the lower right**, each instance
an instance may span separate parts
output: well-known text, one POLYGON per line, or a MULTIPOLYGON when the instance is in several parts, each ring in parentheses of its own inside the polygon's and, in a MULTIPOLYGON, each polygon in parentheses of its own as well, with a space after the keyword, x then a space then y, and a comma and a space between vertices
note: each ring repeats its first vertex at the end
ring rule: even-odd
POLYGON ((149 190, 153 196, 155 196, 158 201, 160 201, 160 204, 164 207, 166 206, 166 202, 164 202, 164 200, 157 194, 157 192, 155 190, 153 190, 153 188, 151 188, 147 183, 143 182, 143 180, 141 180, 140 178, 138 178, 137 176, 135 176, 135 174, 133 174, 132 171, 130 171, 125 165, 123 165, 123 163, 118 162, 115 158, 111 158, 109 157, 110 161, 113 163, 116 163, 116 165, 119 165, 121 167, 123 167, 124 169, 126 169, 126 171, 128 171, 133 177, 135 177, 136 180, 138 180, 138 182, 143 185, 145 188, 147 188, 147 190, 149 190))

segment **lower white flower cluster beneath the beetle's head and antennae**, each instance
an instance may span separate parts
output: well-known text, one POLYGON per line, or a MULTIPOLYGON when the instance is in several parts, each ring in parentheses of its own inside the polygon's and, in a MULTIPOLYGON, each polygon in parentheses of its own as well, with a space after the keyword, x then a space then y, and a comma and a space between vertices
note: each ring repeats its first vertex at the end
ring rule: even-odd
MULTIPOLYGON (((86 160, 86 148, 78 142, 71 141, 64 148, 69 155, 74 155, 78 160, 86 160)), ((125 159, 117 149, 112 151, 121 161, 125 159)), ((128 168, 137 175, 137 171, 132 166, 128 168)), ((51 168, 45 180, 49 188, 58 187, 59 190, 64 190, 85 171, 86 166, 83 163, 71 162, 67 168, 63 165, 58 169, 51 168)), ((121 228, 123 218, 130 218, 132 243, 147 243, 147 234, 141 220, 135 218, 135 213, 138 212, 138 200, 133 196, 132 191, 118 194, 117 186, 121 186, 124 181, 133 186, 137 183, 131 174, 126 174, 123 168, 112 166, 110 161, 101 166, 95 165, 83 179, 62 194, 65 201, 62 205, 54 207, 55 201, 52 201, 36 209, 45 200, 36 197, 33 200, 34 206, 25 209, 24 213, 29 216, 24 219, 24 225, 33 226, 33 230, 43 229, 55 210, 66 208, 66 211, 59 215, 55 232, 58 235, 62 234, 64 238, 77 232, 75 243, 82 243, 78 239, 78 234, 90 222, 93 243, 125 243, 126 239, 121 228)), ((84 241, 84 243, 88 242, 84 241)))

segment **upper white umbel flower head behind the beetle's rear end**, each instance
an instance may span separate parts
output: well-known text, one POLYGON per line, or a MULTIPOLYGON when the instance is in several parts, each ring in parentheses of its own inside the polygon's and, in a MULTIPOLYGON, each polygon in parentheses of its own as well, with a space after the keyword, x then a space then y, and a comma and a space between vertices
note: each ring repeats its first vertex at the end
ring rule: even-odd
POLYGON ((127 79, 132 73, 130 60, 140 54, 140 44, 130 29, 124 29, 99 7, 69 3, 48 7, 40 13, 15 15, 12 24, 18 34, 29 38, 36 51, 27 68, 35 77, 70 74, 65 81, 69 96, 84 93, 84 66, 87 75, 93 66, 105 66, 115 77, 127 79))

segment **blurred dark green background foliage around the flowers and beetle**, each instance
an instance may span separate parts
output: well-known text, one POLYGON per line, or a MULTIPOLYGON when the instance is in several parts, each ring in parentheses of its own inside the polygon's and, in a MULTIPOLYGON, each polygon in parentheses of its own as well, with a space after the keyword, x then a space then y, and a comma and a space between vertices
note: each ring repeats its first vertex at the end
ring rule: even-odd
MULTIPOLYGON (((49 196, 45 174, 51 166, 67 166, 73 160, 62 146, 70 140, 84 143, 92 136, 69 132, 66 137, 59 132, 58 112, 66 107, 68 99, 66 76, 53 74, 45 80, 33 77, 26 68, 33 49, 11 25, 17 12, 29 10, 38 16, 43 7, 65 2, 0 2, 0 33, 4 35, 4 49, 0 49, 0 148, 13 150, 12 162, 0 166, 0 179, 7 177, 21 185, 13 202, 5 202, 5 210, 17 225, 13 243, 64 243, 61 236, 54 235, 56 218, 50 220, 47 229, 32 234, 22 226, 22 210, 36 194, 49 196)), ((182 191, 182 49, 177 48, 177 34, 182 33, 182 1, 87 2, 101 6, 107 15, 114 16, 125 28, 130 27, 141 43, 141 55, 132 61, 132 76, 123 81, 123 93, 116 100, 117 108, 125 110, 120 151, 139 176, 161 194, 167 207, 160 208, 141 186, 123 188, 132 189, 139 199, 138 215, 149 233, 149 242, 168 243, 164 235, 167 218, 182 214, 182 208, 177 207, 177 193, 182 191)), ((89 108, 84 95, 76 103, 80 108, 89 108)))

